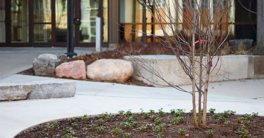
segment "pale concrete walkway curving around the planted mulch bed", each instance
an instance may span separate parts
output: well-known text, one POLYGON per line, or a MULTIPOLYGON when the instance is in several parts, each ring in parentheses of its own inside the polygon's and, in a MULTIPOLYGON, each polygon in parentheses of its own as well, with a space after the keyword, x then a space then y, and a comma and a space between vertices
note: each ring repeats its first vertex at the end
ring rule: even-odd
MULTIPOLYGON (((146 112, 150 109, 158 111, 160 108, 163 108, 165 112, 171 109, 186 109, 188 112, 192 109, 191 95, 172 88, 18 74, 5 77, 0 80, 0 83, 27 83, 36 80, 75 81, 76 94, 70 98, 0 102, 0 137, 12 138, 33 125, 84 114, 117 113, 119 110, 128 109, 132 112, 140 112, 140 108, 146 112)), ((260 98, 264 97, 263 84, 264 79, 210 83, 207 108, 215 108, 216 112, 233 110, 237 114, 259 112, 259 115, 264 115, 264 99, 260 98)), ((191 85, 182 87, 191 89, 191 85)))

